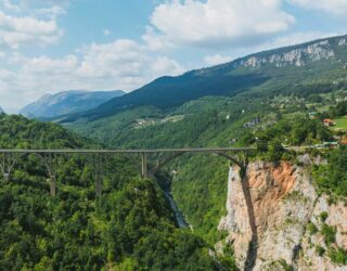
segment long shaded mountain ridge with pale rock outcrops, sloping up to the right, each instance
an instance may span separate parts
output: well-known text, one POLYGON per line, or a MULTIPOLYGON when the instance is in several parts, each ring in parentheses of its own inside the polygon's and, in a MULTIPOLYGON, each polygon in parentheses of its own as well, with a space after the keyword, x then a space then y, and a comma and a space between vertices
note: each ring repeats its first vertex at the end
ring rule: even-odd
POLYGON ((178 77, 162 77, 153 82, 115 98, 87 113, 72 115, 95 119, 138 106, 170 108, 206 95, 233 96, 249 90, 296 91, 308 93, 346 85, 347 36, 320 39, 303 44, 255 53, 233 62, 192 70, 178 77))

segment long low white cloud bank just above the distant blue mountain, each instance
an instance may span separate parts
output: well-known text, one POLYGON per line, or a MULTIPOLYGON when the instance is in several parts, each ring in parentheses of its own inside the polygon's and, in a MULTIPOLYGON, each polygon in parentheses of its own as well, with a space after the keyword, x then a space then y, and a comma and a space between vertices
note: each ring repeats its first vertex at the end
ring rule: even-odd
POLYGON ((127 39, 91 43, 79 54, 51 59, 13 53, 9 65, 20 68, 0 69, 1 106, 21 107, 47 92, 70 89, 133 90, 159 76, 184 72, 176 61, 127 39))

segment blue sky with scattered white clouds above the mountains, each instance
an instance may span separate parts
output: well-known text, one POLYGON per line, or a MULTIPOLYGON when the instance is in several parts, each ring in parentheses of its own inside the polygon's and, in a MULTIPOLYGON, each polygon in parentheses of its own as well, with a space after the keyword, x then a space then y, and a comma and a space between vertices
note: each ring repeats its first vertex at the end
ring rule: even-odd
POLYGON ((347 0, 0 0, 0 106, 347 34, 347 0))

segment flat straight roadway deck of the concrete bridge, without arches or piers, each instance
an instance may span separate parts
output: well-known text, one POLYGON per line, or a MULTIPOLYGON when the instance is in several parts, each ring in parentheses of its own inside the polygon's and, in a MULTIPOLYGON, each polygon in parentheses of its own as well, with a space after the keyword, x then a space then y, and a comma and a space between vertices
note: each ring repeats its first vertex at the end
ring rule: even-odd
POLYGON ((18 150, 3 149, 0 153, 13 154, 151 154, 151 153, 219 153, 248 152, 254 147, 181 147, 181 149, 138 149, 138 150, 18 150))

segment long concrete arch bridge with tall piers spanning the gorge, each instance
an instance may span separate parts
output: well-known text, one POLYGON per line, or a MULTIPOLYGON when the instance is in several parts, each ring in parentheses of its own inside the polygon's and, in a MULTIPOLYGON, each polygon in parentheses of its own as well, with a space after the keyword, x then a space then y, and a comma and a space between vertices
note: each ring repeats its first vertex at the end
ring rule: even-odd
POLYGON ((54 170, 53 157, 56 155, 85 155, 92 158, 95 172, 95 193, 97 196, 102 194, 102 160, 106 156, 116 154, 136 155, 141 158, 141 178, 147 178, 158 172, 160 168, 172 159, 183 154, 214 154, 221 156, 231 164, 237 165, 245 170, 248 163, 248 155, 255 151, 254 147, 182 147, 182 149, 149 149, 149 150, 0 150, 0 170, 4 181, 10 181, 11 172, 18 163, 20 158, 25 155, 36 155, 42 159, 49 180, 50 193, 52 196, 56 194, 56 177, 54 170), (147 157, 150 155, 162 155, 164 158, 158 160, 153 167, 149 167, 147 157))

